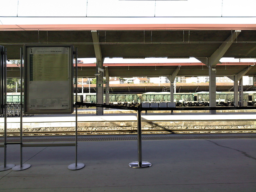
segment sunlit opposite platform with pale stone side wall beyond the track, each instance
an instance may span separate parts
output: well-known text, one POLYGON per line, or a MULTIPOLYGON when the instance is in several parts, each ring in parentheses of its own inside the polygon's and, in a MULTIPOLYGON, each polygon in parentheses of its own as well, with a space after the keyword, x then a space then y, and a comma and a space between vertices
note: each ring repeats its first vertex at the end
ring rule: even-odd
MULTIPOLYGON (((81 110, 78 114, 78 130, 135 130, 137 129, 137 113, 131 110, 106 110, 103 116, 95 114, 95 110, 81 110), (133 113, 131 113, 133 112, 133 113)), ((164 113, 145 112, 141 114, 143 130, 163 129, 255 129, 256 111, 254 112, 209 112, 164 113)), ((35 115, 24 117, 25 131, 74 131, 75 114, 35 115)), ((20 117, 7 118, 8 132, 19 132, 20 117)), ((0 118, 0 136, 4 130, 4 118, 0 118)))

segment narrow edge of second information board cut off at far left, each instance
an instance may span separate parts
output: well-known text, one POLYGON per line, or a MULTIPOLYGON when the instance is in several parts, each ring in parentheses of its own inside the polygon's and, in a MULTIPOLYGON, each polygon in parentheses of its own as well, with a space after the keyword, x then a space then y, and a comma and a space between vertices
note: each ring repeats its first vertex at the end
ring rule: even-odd
POLYGON ((0 45, 0 114, 3 114, 4 107, 4 47, 0 45))

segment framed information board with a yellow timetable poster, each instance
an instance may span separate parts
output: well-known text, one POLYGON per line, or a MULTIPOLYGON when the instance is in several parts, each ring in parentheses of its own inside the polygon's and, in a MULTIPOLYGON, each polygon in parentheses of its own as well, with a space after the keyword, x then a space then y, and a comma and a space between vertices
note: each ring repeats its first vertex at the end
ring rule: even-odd
POLYGON ((72 113, 73 46, 24 46, 24 113, 72 113))

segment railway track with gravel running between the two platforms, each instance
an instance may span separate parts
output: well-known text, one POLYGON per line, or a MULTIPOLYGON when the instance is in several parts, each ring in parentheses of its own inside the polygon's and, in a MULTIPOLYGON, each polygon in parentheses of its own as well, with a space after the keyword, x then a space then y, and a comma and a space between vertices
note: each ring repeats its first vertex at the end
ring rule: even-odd
MULTIPOLYGON (((256 133, 256 129, 152 129, 141 130, 142 134, 216 134, 216 133, 256 133)), ((78 131, 77 135, 120 135, 137 134, 137 130, 90 130, 78 131)), ((23 136, 75 135, 75 131, 24 131, 23 136)), ((4 133, 0 132, 0 137, 4 133)), ((8 132, 7 136, 20 136, 20 132, 8 132)))

